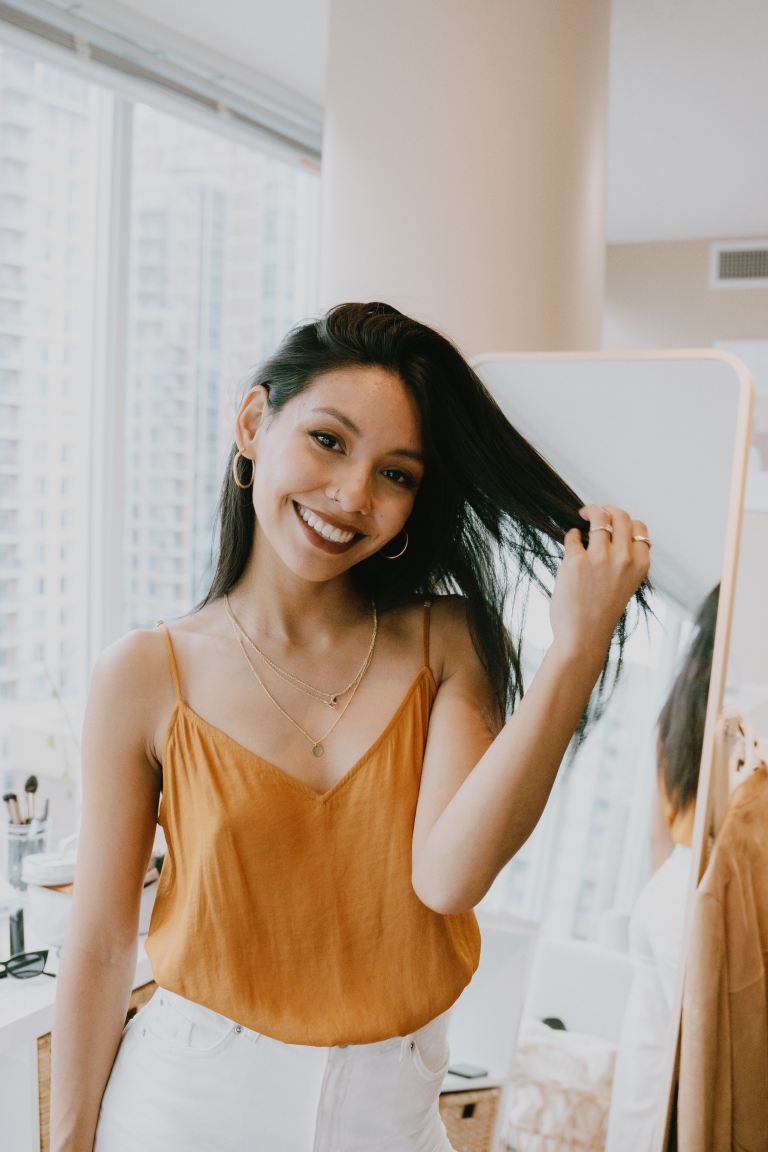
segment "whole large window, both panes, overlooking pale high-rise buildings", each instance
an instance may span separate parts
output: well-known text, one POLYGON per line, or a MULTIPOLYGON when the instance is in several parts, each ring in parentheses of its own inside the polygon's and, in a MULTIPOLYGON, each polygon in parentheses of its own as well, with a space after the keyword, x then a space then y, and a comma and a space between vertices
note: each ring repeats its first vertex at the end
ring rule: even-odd
POLYGON ((0 39, 0 771, 22 790, 10 725, 79 733, 94 654, 201 594, 235 389, 317 306, 314 173, 50 59, 0 39), (117 107, 132 122, 122 165, 117 107), (126 204, 108 195, 115 170, 129 170, 127 209, 112 206, 126 204), (126 218, 97 228, 111 211, 126 218), (100 245, 128 229, 124 395, 107 397, 120 373, 93 359, 113 306, 97 276, 120 265, 100 245), (124 452, 101 458, 115 426, 124 452), (92 515, 105 491, 122 537, 92 515), (100 570, 115 588, 94 586, 100 570), (105 601, 120 609, 111 635, 91 616, 105 601))

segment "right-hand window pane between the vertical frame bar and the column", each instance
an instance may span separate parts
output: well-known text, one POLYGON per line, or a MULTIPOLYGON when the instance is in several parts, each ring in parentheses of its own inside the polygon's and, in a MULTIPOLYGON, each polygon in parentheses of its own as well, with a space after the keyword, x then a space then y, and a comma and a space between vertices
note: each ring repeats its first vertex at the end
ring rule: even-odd
POLYGON ((127 630, 188 611, 207 588, 235 388, 245 366, 314 308, 314 278, 299 274, 292 237, 306 226, 307 198, 317 212, 313 174, 144 105, 136 108, 132 167, 127 630), (265 264, 265 223, 253 209, 267 202, 265 264), (287 287, 280 297, 279 279, 287 287), (150 546, 159 554, 151 555, 134 537, 138 520, 182 531, 153 528, 150 546), (178 568, 165 564, 172 550, 182 552, 178 568), (147 579, 151 571, 183 578, 147 579))

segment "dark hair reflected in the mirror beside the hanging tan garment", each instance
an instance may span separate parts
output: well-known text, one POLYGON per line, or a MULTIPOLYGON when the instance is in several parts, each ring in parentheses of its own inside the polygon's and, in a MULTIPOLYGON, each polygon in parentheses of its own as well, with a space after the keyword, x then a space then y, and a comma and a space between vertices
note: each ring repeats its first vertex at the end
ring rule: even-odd
POLYGON ((699 786, 718 600, 720 584, 715 584, 699 607, 691 642, 659 713, 659 772, 676 813, 695 799, 699 786))

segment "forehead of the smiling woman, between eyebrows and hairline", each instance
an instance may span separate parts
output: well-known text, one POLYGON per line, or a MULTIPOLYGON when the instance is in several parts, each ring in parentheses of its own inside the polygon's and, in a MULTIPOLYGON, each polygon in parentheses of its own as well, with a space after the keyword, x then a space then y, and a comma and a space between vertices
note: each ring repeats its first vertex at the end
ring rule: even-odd
POLYGON ((334 408, 347 416, 360 434, 381 433, 418 448, 421 419, 416 399, 396 372, 374 365, 335 369, 315 377, 296 397, 296 415, 315 408, 334 408))

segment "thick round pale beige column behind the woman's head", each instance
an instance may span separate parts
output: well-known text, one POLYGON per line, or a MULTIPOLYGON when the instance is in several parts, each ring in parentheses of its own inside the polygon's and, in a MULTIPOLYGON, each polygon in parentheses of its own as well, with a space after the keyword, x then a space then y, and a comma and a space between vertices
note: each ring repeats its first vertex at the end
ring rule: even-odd
POLYGON ((332 0, 324 306, 600 346, 609 0, 332 0))

